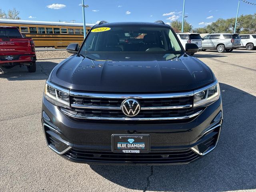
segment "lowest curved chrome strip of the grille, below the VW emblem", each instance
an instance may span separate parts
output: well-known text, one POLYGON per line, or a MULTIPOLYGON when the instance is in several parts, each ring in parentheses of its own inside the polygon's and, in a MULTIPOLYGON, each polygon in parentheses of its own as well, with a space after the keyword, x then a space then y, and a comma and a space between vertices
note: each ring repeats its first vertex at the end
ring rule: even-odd
POLYGON ((197 116, 199 115, 202 110, 192 114, 192 115, 189 115, 189 116, 181 116, 181 117, 159 117, 159 118, 127 118, 127 117, 124 117, 124 118, 111 118, 111 117, 97 117, 97 116, 80 116, 80 115, 75 115, 75 114, 72 114, 70 112, 68 112, 68 110, 64 109, 64 108, 61 108, 62 112, 70 117, 73 117, 73 118, 78 118, 78 119, 90 119, 90 120, 118 120, 118 121, 121 121, 121 120, 130 120, 130 121, 142 121, 142 120, 180 120, 180 119, 188 119, 188 118, 192 118, 194 116, 197 116))

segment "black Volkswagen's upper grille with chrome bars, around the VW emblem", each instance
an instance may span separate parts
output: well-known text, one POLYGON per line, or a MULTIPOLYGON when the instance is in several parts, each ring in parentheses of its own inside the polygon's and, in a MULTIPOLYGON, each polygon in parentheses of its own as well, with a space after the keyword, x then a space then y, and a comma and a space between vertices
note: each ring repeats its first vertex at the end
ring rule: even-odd
POLYGON ((203 110, 192 107, 193 99, 193 92, 131 96, 70 92, 71 107, 61 110, 72 118, 89 120, 190 120, 203 110), (122 112, 122 102, 127 98, 136 99, 140 104, 140 112, 134 117, 122 112))

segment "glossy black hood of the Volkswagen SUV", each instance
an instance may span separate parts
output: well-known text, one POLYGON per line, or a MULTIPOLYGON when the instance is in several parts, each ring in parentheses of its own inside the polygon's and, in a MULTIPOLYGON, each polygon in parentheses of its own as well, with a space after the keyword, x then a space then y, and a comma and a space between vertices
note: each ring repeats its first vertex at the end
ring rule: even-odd
POLYGON ((50 81, 86 92, 182 92, 214 79, 212 71, 187 54, 79 54, 52 71, 50 81))

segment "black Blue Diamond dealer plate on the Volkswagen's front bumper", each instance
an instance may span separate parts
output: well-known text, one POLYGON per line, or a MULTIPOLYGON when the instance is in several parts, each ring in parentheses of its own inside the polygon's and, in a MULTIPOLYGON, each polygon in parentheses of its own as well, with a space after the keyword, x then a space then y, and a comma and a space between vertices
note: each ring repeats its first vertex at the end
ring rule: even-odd
POLYGON ((112 134, 112 152, 149 153, 149 134, 112 134))

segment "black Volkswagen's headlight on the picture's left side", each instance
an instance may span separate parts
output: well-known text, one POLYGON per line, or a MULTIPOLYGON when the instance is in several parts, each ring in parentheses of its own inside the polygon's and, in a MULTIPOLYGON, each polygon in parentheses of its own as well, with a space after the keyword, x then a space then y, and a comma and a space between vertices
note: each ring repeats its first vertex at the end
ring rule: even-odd
POLYGON ((56 106, 69 106, 69 90, 60 88, 50 82, 45 84, 44 96, 56 106))

